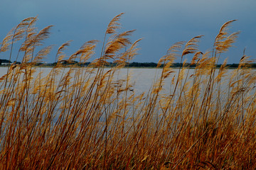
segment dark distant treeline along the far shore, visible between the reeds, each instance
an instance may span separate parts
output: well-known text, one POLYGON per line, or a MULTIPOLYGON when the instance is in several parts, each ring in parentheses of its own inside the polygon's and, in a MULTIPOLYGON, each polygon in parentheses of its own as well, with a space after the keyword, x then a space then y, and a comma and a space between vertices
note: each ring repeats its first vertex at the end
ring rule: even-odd
MULTIPOLYGON (((16 62, 16 61, 15 61, 16 62)), ((0 59, 0 64, 9 64, 12 63, 9 60, 3 60, 0 59)), ((21 62, 16 62, 16 64, 21 64, 21 62)), ((55 66, 57 63, 53 62, 53 63, 36 63, 36 66, 55 66)), ((77 65, 79 67, 87 67, 90 64, 92 64, 91 62, 76 62, 76 61, 72 61, 72 62, 68 62, 68 61, 63 61, 62 62, 63 66, 69 66, 69 65, 77 65)), ((105 64, 106 67, 115 67, 117 65, 117 63, 114 62, 109 62, 108 64, 105 64)), ((186 63, 185 65, 190 65, 189 67, 194 68, 196 67, 196 64, 190 64, 190 63, 186 63)), ((217 67, 220 67, 222 64, 217 64, 217 67)), ((239 64, 227 64, 227 67, 230 68, 237 68, 239 64)), ((171 67, 180 67, 181 63, 175 62, 174 64, 171 65, 171 67)), ((130 63, 126 63, 124 67, 157 67, 157 63, 156 62, 130 62, 130 63)), ((164 67, 163 64, 161 64, 161 66, 159 67, 164 67)), ((251 63, 248 64, 248 67, 252 67, 252 68, 256 68, 256 63, 251 63)))

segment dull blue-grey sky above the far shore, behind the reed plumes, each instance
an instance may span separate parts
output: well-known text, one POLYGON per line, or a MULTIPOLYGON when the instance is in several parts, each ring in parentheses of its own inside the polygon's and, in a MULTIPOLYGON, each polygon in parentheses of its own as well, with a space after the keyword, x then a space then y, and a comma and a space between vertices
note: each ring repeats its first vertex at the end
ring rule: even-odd
MULTIPOLYGON (((220 62, 228 58, 228 63, 238 63, 245 47, 245 55, 252 60, 256 58, 255 0, 3 0, 0 40, 24 18, 38 16, 38 30, 53 25, 45 45, 55 46, 45 62, 54 62, 58 47, 68 40, 73 41, 65 51, 67 55, 84 42, 99 40, 93 60, 100 55, 108 23, 119 13, 124 13, 121 31, 136 29, 132 42, 143 38, 134 62, 158 62, 175 42, 188 41, 197 35, 204 35, 199 50, 212 50, 220 27, 233 19, 238 21, 232 24, 230 32, 241 33, 220 62)), ((14 47, 18 49, 17 46, 14 47)), ((8 55, 2 52, 0 59, 9 59, 8 55)))

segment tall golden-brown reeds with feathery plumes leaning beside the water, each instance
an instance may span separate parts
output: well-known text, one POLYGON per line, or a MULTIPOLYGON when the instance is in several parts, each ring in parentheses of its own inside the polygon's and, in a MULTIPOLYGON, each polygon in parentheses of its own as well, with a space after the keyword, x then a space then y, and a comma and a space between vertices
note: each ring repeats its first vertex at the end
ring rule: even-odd
POLYGON ((116 78, 139 42, 129 40, 134 30, 118 32, 122 14, 110 21, 101 55, 89 67, 62 63, 86 62, 97 41, 67 57, 68 41, 48 75, 34 65, 52 48, 38 50, 51 26, 37 31, 37 18, 26 18, 6 35, 1 52, 22 62, 1 77, 0 169, 256 169, 250 58, 241 56, 231 74, 226 62, 216 69, 238 36, 228 31, 233 21, 220 28, 210 52, 198 50, 202 35, 172 45, 159 60, 164 67, 154 85, 136 94, 129 68, 125 79, 116 78), (14 42, 21 40, 13 57, 14 42), (195 69, 185 64, 188 54, 195 69), (184 64, 175 72, 177 59, 184 64), (106 70, 109 61, 117 66, 106 70))

